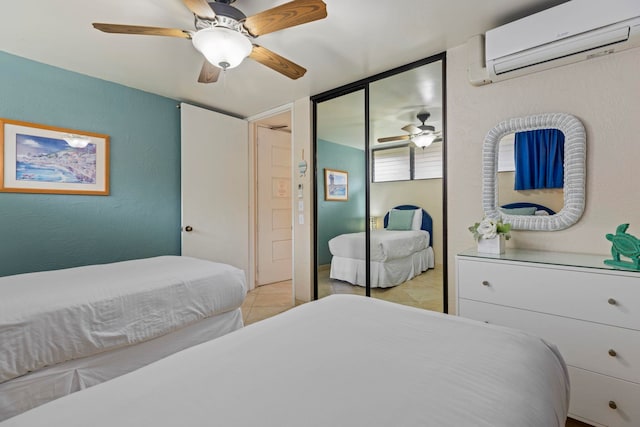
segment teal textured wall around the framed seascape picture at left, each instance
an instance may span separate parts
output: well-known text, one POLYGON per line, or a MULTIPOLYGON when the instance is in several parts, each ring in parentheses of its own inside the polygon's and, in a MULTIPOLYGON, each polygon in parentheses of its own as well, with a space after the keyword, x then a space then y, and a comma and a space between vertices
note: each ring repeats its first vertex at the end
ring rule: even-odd
POLYGON ((176 105, 0 51, 0 117, 111 144, 109 196, 0 193, 0 276, 180 254, 176 105))

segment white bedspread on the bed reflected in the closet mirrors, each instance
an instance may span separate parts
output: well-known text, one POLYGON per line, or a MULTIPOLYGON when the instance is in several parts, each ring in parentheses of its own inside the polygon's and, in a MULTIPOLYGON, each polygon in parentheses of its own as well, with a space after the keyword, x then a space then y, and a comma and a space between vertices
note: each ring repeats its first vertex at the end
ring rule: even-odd
MULTIPOLYGON (((365 234, 340 234, 329 240, 329 250, 334 256, 364 259, 365 234)), ((427 248, 429 232, 424 230, 371 232, 371 261, 389 261, 404 258, 427 248)))

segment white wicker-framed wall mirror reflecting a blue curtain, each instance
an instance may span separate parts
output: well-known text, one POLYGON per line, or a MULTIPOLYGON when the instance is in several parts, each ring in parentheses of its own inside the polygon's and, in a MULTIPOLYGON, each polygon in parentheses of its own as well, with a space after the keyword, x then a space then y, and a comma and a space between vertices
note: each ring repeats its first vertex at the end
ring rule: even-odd
POLYGON ((556 231, 572 226, 582 216, 586 134, 577 117, 566 113, 547 113, 502 121, 487 133, 482 160, 482 207, 487 217, 502 217, 513 230, 556 231), (507 178, 508 174, 503 172, 501 179, 499 169, 506 160, 501 160, 499 153, 508 152, 501 143, 507 146, 509 138, 515 141, 521 135, 526 140, 524 154, 515 153, 516 149, 513 149, 514 154, 510 155, 515 162, 513 176, 507 178), (524 167, 519 170, 521 160, 524 160, 524 167), (521 174, 525 178, 519 177, 521 174), (560 181, 562 189, 557 188, 560 181), (558 209, 560 195, 562 205, 558 209), (540 197, 540 203, 536 203, 538 200, 534 200, 534 196, 540 197), (529 200, 523 200, 527 198, 529 200), (533 211, 522 209, 530 209, 532 204, 535 207, 533 211))

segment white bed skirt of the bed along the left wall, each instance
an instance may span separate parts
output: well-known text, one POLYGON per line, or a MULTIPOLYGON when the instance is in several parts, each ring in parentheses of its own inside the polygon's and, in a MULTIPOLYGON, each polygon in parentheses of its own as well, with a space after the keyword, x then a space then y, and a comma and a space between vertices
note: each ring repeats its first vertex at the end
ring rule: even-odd
POLYGON ((70 360, 0 383, 0 421, 243 327, 240 308, 143 343, 70 360))

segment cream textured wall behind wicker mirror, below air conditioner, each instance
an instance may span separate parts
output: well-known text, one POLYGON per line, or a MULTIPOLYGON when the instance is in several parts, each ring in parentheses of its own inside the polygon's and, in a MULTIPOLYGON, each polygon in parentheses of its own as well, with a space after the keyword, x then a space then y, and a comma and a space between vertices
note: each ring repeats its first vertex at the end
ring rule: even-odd
POLYGON ((556 232, 516 231, 509 247, 607 255, 606 233, 625 222, 640 235, 640 48, 539 73, 471 86, 467 51, 447 51, 449 311, 455 312, 455 255, 475 245, 467 227, 482 217, 481 153, 486 133, 509 117, 565 112, 587 131, 586 208, 556 232))

